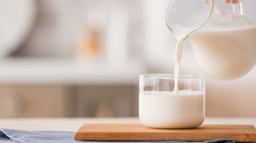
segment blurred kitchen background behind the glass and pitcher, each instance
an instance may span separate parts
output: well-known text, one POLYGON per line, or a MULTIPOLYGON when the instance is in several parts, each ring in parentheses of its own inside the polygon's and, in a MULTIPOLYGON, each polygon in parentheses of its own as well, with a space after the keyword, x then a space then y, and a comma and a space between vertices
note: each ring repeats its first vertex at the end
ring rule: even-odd
MULTIPOLYGON (((174 72, 168 3, 0 1, 0 117, 137 117, 139 74, 174 72)), ((256 24, 256 1, 243 4, 256 24)), ((205 75, 187 41, 181 73, 205 75)), ((256 68, 232 81, 206 76, 206 117, 256 117, 256 68)))

